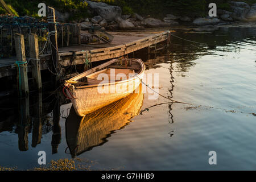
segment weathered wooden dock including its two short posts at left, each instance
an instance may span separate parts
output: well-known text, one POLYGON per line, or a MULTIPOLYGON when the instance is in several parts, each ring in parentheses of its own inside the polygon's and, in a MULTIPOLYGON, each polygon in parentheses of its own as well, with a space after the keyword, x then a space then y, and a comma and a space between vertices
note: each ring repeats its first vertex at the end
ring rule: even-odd
MULTIPOLYGON (((30 79, 33 80, 32 83, 34 83, 39 92, 42 90, 41 71, 43 70, 48 69, 53 75, 58 75, 56 74, 56 68, 57 70, 69 69, 72 65, 85 65, 95 61, 114 59, 139 49, 150 48, 151 45, 154 45, 156 50, 156 44, 164 41, 167 44, 167 40, 170 38, 170 31, 110 32, 110 34, 114 37, 111 43, 72 44, 68 47, 60 47, 58 49, 56 65, 53 64, 56 61, 52 60, 50 53, 39 55, 38 36, 36 34, 29 34, 29 46, 32 47, 30 48, 29 55, 26 55, 24 36, 22 34, 15 34, 17 56, 0 59, 0 78, 8 77, 16 80, 17 69, 19 69, 18 85, 21 88, 21 90, 19 88, 20 95, 27 96, 30 92, 28 83, 30 79), (16 61, 22 64, 15 65, 16 61), (55 71, 53 68, 55 68, 55 71), (28 72, 32 73, 31 78, 27 76, 28 72)), ((147 53, 150 53, 148 50, 147 53)), ((71 75, 71 73, 68 74, 68 76, 71 75)), ((62 79, 67 77, 67 75, 63 76, 62 79)))

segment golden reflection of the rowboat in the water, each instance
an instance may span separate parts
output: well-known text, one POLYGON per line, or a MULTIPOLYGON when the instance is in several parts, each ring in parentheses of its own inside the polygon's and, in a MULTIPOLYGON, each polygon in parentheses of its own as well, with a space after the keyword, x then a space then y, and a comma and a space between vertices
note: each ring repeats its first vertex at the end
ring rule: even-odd
POLYGON ((122 129, 139 113, 143 104, 142 85, 134 93, 108 106, 79 117, 71 108, 66 120, 66 139, 72 158, 93 147, 108 142, 106 138, 115 130, 122 129))

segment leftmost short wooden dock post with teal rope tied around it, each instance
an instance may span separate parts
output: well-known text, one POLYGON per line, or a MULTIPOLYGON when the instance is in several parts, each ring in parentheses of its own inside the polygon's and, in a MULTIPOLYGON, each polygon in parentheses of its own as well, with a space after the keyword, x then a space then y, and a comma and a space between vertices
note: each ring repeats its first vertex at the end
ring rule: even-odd
POLYGON ((15 34, 15 50, 19 68, 19 96, 28 96, 27 60, 25 55, 24 35, 15 34))

